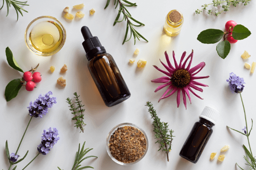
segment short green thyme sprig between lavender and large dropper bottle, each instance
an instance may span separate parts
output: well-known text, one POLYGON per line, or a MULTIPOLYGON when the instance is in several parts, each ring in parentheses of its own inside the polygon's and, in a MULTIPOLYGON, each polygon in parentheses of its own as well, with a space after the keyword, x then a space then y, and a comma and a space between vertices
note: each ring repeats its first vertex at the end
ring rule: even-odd
POLYGON ((75 92, 74 93, 74 95, 75 95, 75 99, 76 99, 76 107, 74 106, 74 104, 72 104, 72 102, 71 102, 71 99, 68 97, 66 100, 67 100, 67 103, 68 104, 70 104, 70 111, 72 111, 72 114, 74 115, 74 117, 72 118, 72 120, 76 120, 76 122, 75 122, 75 126, 74 127, 76 127, 76 128, 80 128, 81 129, 81 131, 80 131, 80 133, 81 132, 83 132, 84 133, 84 127, 83 127, 83 125, 86 125, 86 124, 84 124, 84 114, 83 114, 83 112, 85 111, 84 109, 82 109, 82 107, 84 106, 84 105, 81 105, 81 101, 79 100, 79 96, 77 95, 77 93, 75 92), (77 111, 78 110, 78 111, 77 111), (79 115, 79 113, 80 113, 80 115, 79 115), (77 115, 78 114, 78 115, 77 115))

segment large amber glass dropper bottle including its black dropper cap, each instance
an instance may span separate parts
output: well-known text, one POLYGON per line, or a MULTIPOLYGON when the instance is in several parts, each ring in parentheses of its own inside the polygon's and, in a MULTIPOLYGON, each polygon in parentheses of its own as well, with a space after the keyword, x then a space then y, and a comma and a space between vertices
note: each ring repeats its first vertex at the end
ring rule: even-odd
POLYGON ((82 43, 88 59, 88 69, 108 107, 117 105, 131 96, 113 57, 106 53, 98 37, 93 37, 89 28, 81 28, 84 42, 82 43))

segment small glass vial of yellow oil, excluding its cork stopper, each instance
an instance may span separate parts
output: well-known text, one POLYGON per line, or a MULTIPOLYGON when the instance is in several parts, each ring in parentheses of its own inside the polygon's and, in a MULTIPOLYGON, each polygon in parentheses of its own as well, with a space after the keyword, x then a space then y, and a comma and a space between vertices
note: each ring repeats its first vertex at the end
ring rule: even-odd
POLYGON ((183 15, 180 11, 180 14, 181 14, 181 19, 180 21, 178 21, 177 23, 174 23, 170 20, 170 17, 169 15, 173 12, 173 11, 178 11, 178 10, 172 10, 170 11, 167 16, 166 16, 166 21, 165 21, 165 24, 164 24, 164 31, 166 32, 167 35, 169 36, 176 36, 177 34, 180 33, 180 30, 182 28, 182 24, 183 24, 183 15))

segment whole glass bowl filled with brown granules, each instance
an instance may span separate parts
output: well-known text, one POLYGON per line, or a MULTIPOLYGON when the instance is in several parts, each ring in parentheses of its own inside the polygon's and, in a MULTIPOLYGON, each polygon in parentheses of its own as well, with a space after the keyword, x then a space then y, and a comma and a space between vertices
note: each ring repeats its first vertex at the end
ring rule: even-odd
POLYGON ((121 165, 135 164, 147 153, 148 137, 144 130, 132 123, 116 125, 106 140, 108 155, 121 165))

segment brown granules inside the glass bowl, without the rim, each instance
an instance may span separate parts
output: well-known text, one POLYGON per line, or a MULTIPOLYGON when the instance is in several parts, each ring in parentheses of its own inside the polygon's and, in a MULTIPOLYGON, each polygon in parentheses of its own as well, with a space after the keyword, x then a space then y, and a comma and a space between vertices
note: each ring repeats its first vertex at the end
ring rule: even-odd
POLYGON ((109 139, 111 155, 120 162, 131 163, 145 153, 147 142, 144 134, 136 127, 118 127, 109 139))

